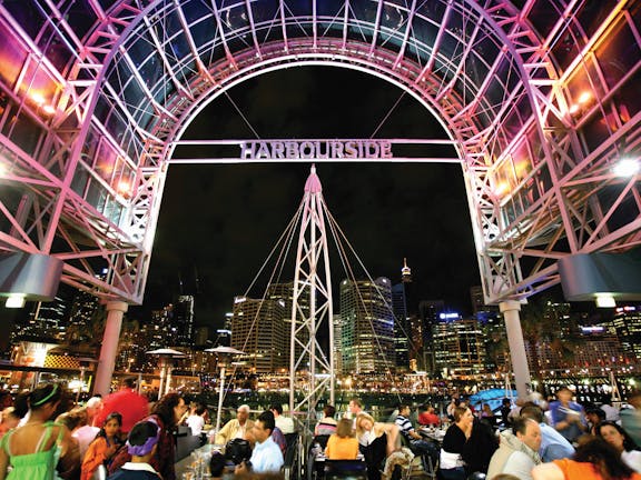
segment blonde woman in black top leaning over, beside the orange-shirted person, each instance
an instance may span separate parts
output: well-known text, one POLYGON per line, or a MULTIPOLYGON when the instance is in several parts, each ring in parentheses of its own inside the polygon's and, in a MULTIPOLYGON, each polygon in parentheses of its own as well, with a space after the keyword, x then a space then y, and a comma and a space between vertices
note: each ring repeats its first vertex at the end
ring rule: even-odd
POLYGON ((356 439, 367 463, 368 480, 381 480, 379 467, 384 460, 401 448, 398 426, 374 421, 368 413, 356 417, 356 439))

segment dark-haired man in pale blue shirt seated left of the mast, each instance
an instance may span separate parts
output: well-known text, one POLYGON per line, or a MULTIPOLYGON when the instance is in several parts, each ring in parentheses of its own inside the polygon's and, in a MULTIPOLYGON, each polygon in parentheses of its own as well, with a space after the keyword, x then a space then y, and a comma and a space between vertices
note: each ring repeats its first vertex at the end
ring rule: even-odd
POLYGON ((252 470, 257 473, 278 472, 283 467, 283 452, 272 438, 272 432, 276 428, 274 413, 264 411, 254 423, 252 433, 256 439, 256 446, 252 452, 249 463, 243 462, 236 467, 236 473, 246 473, 252 470))

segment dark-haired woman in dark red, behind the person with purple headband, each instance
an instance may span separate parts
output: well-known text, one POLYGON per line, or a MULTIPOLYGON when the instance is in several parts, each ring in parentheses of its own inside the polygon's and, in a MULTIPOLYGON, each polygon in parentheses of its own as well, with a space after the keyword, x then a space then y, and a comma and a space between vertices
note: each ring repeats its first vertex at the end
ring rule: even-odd
MULTIPOLYGON (((154 404, 151 414, 145 419, 146 422, 157 424, 160 431, 156 453, 150 458, 149 463, 160 473, 162 480, 176 480, 174 431, 186 410, 187 406, 183 397, 174 392, 167 393, 154 404)), ((109 473, 114 473, 130 460, 131 456, 128 450, 120 449, 109 466, 109 473)))

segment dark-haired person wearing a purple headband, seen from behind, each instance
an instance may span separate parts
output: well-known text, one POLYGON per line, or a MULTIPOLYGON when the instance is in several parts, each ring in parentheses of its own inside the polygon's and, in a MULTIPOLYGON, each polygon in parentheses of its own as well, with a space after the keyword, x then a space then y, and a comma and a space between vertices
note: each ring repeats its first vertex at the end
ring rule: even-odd
POLYGON ((136 423, 127 439, 127 453, 131 461, 109 477, 108 480, 164 480, 151 466, 156 456, 160 429, 152 421, 136 423))

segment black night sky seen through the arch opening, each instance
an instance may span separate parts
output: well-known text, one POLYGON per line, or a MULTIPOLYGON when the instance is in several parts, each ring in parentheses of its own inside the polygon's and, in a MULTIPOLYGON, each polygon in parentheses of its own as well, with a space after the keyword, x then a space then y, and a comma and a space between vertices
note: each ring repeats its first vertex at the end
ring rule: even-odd
MULTIPOLYGON (((204 109, 185 138, 254 139, 230 100, 262 139, 445 138, 432 114, 395 86, 320 67, 245 81, 204 109)), ((145 304, 130 317, 171 302, 180 279, 190 293, 198 277, 196 322, 219 324, 295 214, 309 166, 172 164, 145 304)), ((406 257, 417 297, 470 311, 469 288, 480 280, 460 166, 331 162, 318 163, 317 173, 329 211, 372 277, 398 281, 406 257)), ((267 270, 273 268, 274 261, 267 270)), ((339 264, 332 268, 337 284, 345 273, 339 264)), ((282 276, 292 278, 293 271, 282 276)), ((265 281, 253 296, 264 288, 265 281)))

